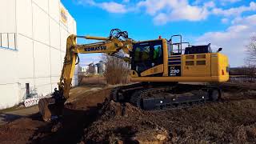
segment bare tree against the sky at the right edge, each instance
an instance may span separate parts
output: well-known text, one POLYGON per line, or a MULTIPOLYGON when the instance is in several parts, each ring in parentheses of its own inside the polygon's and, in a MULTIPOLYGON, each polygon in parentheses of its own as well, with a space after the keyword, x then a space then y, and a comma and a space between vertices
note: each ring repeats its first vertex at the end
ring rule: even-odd
POLYGON ((256 35, 250 38, 250 43, 246 46, 246 55, 246 64, 256 65, 256 35))

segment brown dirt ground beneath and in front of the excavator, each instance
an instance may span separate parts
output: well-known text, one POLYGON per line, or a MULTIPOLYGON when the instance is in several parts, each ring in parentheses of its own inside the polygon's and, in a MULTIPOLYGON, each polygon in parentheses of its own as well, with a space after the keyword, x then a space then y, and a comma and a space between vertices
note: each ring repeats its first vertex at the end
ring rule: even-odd
POLYGON ((256 84, 222 84, 219 102, 143 111, 110 100, 104 84, 75 87, 63 117, 42 122, 37 106, 2 111, 0 143, 255 143, 256 84))

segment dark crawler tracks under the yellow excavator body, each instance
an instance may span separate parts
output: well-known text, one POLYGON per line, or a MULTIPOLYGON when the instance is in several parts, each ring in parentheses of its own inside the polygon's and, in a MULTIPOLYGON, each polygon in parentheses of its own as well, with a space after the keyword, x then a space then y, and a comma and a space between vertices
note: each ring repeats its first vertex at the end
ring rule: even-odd
POLYGON ((115 102, 130 102, 143 110, 163 110, 215 101, 221 97, 221 90, 214 86, 149 86, 138 83, 117 87, 111 95, 115 102), (214 96, 214 90, 218 95, 214 96))

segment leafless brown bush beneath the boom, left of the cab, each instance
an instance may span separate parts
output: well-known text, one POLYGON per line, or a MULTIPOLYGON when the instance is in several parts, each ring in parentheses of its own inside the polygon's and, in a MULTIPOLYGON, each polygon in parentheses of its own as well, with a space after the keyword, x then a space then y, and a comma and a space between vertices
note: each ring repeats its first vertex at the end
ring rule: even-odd
POLYGON ((124 62, 121 58, 111 57, 102 54, 102 61, 106 64, 104 76, 108 84, 128 83, 129 78, 129 64, 124 62))

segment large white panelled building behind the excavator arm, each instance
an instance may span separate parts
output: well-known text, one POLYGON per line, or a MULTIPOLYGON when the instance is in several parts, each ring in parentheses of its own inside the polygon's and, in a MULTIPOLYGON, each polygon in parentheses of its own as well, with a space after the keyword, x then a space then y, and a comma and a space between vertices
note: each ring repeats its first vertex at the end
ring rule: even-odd
POLYGON ((60 0, 1 0, 0 109, 22 102, 26 83, 40 96, 53 92, 69 34, 76 22, 60 0))

